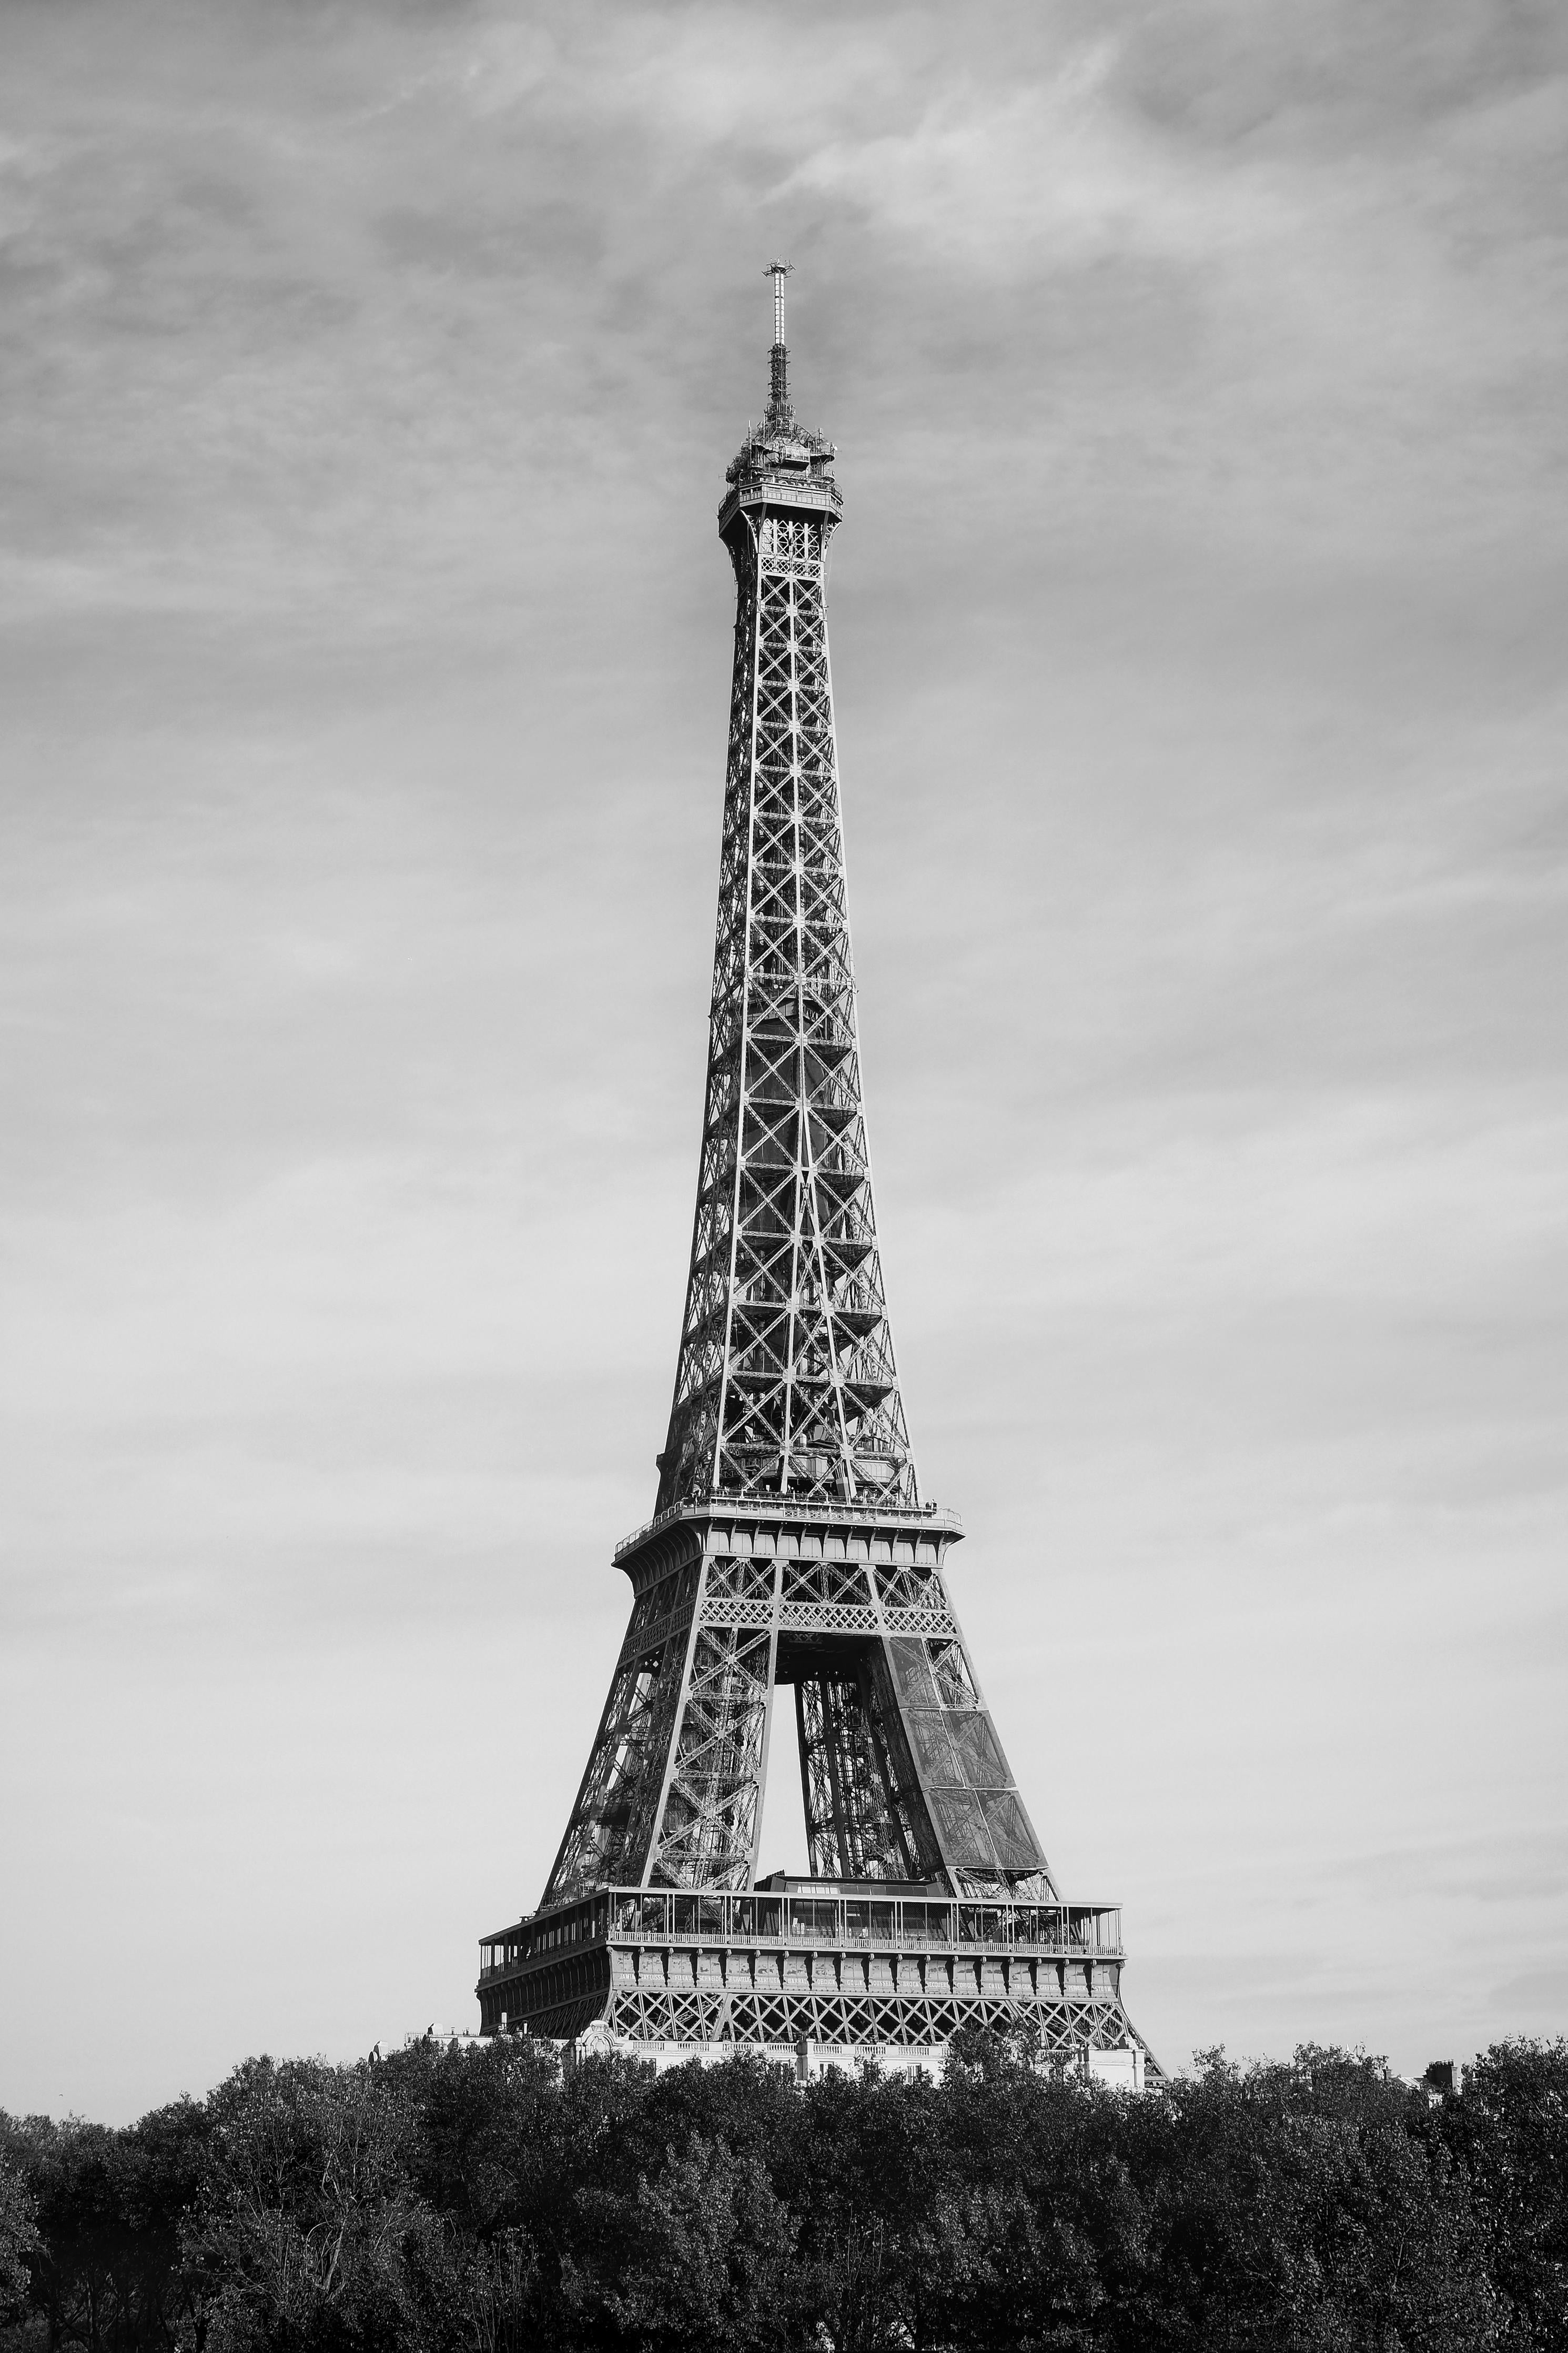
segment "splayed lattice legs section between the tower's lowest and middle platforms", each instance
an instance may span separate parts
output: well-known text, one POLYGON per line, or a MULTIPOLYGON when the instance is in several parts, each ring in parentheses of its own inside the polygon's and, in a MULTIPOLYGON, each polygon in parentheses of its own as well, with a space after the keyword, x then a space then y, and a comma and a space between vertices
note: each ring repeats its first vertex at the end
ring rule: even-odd
POLYGON ((780 1678, 816 1873, 1053 1899, 940 1569, 712 1555, 632 1607, 543 1901, 750 1887, 780 1678))

